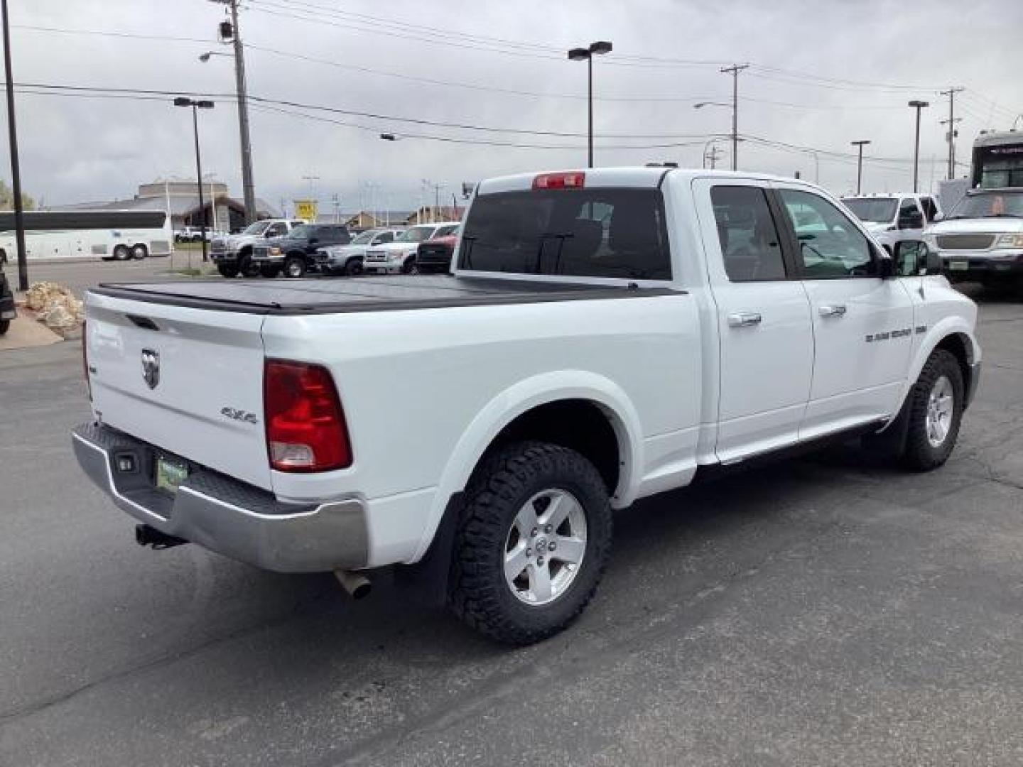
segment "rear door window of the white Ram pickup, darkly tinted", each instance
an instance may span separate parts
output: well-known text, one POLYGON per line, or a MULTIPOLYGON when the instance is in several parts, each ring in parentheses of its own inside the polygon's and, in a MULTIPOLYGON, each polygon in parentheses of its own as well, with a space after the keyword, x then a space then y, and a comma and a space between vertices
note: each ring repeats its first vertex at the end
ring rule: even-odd
POLYGON ((715 186, 710 190, 710 199, 728 279, 785 279, 782 240, 764 190, 756 186, 715 186))

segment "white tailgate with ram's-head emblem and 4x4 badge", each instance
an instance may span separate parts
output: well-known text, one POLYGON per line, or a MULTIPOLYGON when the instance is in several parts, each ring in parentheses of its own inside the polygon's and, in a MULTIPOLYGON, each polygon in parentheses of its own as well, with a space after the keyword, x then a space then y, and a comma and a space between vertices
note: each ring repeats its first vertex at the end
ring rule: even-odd
POLYGON ((98 418, 169 453, 271 489, 263 316, 91 291, 86 305, 98 418))

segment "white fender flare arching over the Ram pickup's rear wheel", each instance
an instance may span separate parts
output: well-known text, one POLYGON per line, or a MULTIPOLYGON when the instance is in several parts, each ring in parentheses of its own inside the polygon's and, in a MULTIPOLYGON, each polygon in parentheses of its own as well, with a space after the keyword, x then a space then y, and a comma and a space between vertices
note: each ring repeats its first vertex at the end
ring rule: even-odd
POLYGON ((501 431, 523 413, 562 400, 588 400, 605 410, 618 439, 621 460, 612 503, 623 506, 631 501, 639 467, 643 465, 643 448, 639 414, 628 395, 610 378, 585 370, 541 373, 508 387, 470 421, 445 464, 413 561, 426 553, 451 496, 465 488, 473 470, 501 431))

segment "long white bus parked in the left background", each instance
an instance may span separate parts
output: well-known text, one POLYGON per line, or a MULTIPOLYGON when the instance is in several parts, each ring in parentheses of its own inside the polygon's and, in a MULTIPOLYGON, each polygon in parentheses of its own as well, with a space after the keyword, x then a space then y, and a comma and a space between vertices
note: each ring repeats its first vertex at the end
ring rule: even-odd
MULTIPOLYGON (((33 261, 170 256, 174 234, 163 211, 27 211, 26 256, 33 261)), ((17 258, 14 214, 0 212, 0 262, 17 258)))

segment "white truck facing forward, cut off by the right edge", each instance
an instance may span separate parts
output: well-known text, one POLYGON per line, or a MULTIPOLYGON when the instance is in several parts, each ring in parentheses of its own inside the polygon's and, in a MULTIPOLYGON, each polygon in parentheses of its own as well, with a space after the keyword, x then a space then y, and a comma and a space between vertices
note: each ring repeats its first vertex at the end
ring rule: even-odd
POLYGON ((1023 295, 1023 188, 974 189, 924 234, 953 282, 1023 295))

